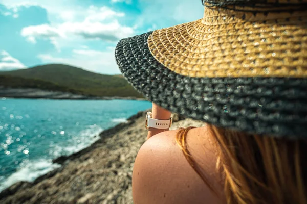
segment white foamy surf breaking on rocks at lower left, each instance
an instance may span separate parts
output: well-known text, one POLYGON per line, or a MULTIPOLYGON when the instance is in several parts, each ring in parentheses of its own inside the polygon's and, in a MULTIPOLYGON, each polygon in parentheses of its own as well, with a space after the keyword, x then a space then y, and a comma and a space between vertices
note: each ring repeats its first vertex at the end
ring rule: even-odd
POLYGON ((60 166, 59 164, 53 164, 52 160, 39 159, 30 161, 26 166, 17 170, 0 183, 0 192, 20 181, 33 182, 37 177, 59 168, 60 166))

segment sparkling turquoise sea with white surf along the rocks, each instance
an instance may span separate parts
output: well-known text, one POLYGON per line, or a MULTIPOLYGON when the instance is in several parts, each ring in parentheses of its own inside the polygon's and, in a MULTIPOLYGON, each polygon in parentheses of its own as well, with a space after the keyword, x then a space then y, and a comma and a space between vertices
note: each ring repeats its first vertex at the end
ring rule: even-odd
POLYGON ((52 160, 99 139, 99 133, 151 103, 136 100, 0 98, 0 191, 58 168, 52 160))

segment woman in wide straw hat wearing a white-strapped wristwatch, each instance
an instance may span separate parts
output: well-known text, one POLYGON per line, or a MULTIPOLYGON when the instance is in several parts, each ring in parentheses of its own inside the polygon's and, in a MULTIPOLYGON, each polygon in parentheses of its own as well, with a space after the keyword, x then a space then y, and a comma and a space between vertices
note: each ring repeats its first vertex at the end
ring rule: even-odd
POLYGON ((154 103, 135 203, 307 203, 307 1, 203 5, 203 19, 117 45, 154 103), (169 111, 208 125, 168 131, 169 111))

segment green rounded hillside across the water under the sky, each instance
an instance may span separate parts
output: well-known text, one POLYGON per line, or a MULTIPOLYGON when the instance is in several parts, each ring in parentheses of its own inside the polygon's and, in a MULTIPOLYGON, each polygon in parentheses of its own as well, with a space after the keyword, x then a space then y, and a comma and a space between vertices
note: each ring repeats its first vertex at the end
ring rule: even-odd
POLYGON ((0 72, 0 86, 69 91, 91 96, 142 97, 120 75, 103 75, 62 64, 0 72))

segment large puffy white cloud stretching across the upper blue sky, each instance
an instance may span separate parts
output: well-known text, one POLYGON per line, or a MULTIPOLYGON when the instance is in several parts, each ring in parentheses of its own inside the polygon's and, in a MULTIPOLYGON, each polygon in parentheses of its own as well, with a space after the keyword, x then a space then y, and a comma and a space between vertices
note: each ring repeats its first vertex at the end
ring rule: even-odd
MULTIPOLYGON (((56 38, 69 40, 71 35, 80 36, 85 39, 101 39, 108 42, 116 42, 121 38, 134 34, 134 29, 121 25, 118 20, 102 22, 114 17, 123 17, 125 14, 115 12, 108 7, 91 6, 87 10, 89 15, 81 22, 64 22, 57 25, 35 25, 23 28, 21 35, 27 37, 28 41, 34 43, 36 38, 51 39, 54 44, 56 38)), ((59 47, 58 47, 59 49, 59 47)))

